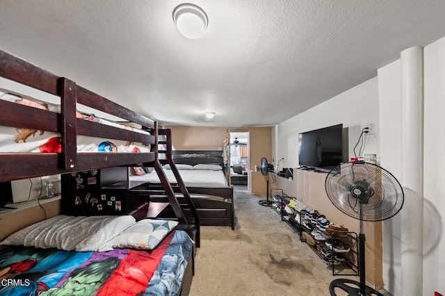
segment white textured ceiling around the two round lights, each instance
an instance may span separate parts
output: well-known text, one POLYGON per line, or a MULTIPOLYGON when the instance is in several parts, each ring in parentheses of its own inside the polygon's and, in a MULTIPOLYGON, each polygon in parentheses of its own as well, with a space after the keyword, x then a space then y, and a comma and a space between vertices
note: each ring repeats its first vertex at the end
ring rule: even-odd
POLYGON ((197 0, 209 26, 188 40, 180 3, 1 0, 0 48, 161 124, 239 127, 283 122, 445 36, 443 0, 197 0))

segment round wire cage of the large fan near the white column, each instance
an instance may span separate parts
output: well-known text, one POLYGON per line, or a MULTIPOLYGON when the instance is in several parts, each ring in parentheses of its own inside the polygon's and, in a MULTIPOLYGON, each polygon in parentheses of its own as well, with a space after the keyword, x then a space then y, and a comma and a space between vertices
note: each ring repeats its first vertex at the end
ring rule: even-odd
POLYGON ((326 176, 325 190, 335 207, 358 220, 387 220, 403 206, 401 184, 390 172, 372 163, 337 165, 326 176), (353 194, 353 188, 364 194, 353 194))

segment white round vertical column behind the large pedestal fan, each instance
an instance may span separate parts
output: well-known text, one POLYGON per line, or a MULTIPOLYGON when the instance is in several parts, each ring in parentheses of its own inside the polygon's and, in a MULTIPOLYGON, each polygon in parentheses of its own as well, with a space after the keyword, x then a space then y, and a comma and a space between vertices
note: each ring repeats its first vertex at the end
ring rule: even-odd
POLYGON ((423 49, 401 52, 402 178, 401 295, 422 295, 423 278, 423 49), (417 196, 416 196, 417 195, 417 196))

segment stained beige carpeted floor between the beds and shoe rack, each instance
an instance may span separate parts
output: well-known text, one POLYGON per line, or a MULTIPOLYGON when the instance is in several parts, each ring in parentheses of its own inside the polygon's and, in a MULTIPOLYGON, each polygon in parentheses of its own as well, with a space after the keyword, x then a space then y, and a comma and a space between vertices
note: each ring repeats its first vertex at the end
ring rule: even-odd
POLYGON ((201 228, 190 295, 330 295, 339 277, 259 199, 236 186, 235 230, 201 228))

